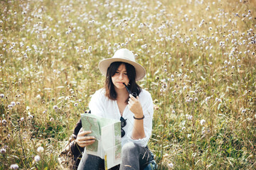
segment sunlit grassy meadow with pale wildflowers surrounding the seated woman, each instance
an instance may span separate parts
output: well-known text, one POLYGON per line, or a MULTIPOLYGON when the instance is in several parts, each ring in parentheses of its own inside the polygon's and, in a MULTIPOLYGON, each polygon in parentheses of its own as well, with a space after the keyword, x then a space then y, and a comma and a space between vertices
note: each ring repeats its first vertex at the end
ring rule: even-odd
POLYGON ((97 64, 125 47, 158 169, 256 169, 256 1, 1 0, 0 169, 60 169, 97 64))

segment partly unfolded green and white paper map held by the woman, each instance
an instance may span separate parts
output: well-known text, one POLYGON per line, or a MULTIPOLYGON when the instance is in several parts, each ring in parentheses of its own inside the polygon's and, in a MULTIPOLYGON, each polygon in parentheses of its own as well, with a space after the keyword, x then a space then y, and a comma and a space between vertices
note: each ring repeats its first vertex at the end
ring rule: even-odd
POLYGON ((95 142, 86 147, 87 154, 105 159, 105 169, 121 163, 121 123, 120 120, 102 118, 88 113, 81 114, 82 129, 91 130, 88 134, 95 142))

